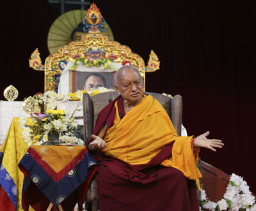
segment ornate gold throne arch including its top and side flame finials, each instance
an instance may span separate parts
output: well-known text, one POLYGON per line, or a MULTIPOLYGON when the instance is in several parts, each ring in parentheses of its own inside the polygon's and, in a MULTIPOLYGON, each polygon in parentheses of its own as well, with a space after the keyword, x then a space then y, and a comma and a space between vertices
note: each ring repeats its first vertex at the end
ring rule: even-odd
MULTIPOLYGON (((145 78, 146 72, 153 72, 159 69, 159 60, 157 55, 151 50, 150 59, 147 66, 140 55, 133 53, 131 48, 121 45, 117 41, 110 41, 108 36, 101 32, 105 30, 102 26, 105 23, 99 8, 95 4, 91 4, 86 16, 83 20, 84 32, 81 40, 71 41, 68 45, 63 45, 45 59, 45 64, 42 64, 38 48, 31 54, 29 59, 29 67, 45 71, 45 92, 55 90, 56 79, 60 78, 60 74, 68 62, 74 61, 77 57, 90 57, 92 58, 92 66, 96 66, 97 62, 94 60, 101 57, 100 53, 93 52, 97 49, 98 52, 104 52, 104 57, 111 59, 112 62, 120 63, 122 65, 132 65, 140 69, 141 76, 145 78), (92 51, 92 54, 88 52, 92 51)), ((50 29, 51 30, 51 29, 50 29)), ((90 58, 89 61, 90 61, 90 58)))

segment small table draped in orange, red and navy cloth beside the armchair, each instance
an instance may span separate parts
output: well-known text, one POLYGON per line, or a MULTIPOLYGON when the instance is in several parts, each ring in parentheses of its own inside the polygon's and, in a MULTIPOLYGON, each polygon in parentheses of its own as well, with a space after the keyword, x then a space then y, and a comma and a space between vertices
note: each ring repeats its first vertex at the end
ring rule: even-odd
POLYGON ((71 211, 76 203, 81 207, 97 163, 86 147, 44 145, 29 147, 19 168, 26 176, 24 210, 47 210, 52 203, 71 211))

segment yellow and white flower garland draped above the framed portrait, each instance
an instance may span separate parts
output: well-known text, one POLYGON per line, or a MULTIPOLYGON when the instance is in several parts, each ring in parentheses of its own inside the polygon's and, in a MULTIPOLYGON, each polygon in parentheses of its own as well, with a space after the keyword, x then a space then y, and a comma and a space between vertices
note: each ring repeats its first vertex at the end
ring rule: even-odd
POLYGON ((98 59, 91 59, 88 57, 85 57, 84 55, 74 55, 73 57, 74 66, 71 67, 72 71, 75 71, 78 64, 85 64, 87 68, 97 66, 99 69, 113 69, 117 70, 116 66, 111 64, 111 61, 109 58, 100 57, 98 59))

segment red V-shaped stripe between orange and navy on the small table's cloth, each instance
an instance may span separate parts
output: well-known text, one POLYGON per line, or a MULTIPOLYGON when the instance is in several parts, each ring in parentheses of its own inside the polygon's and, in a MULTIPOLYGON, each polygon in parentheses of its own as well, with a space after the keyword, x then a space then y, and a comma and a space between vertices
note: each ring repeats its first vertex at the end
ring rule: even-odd
POLYGON ((82 160, 84 155, 88 152, 86 148, 84 148, 83 151, 81 151, 77 156, 70 161, 70 163, 67 164, 59 173, 56 173, 54 170, 52 170, 51 166, 47 164, 45 161, 42 161, 42 157, 31 147, 29 147, 28 152, 33 159, 35 159, 36 163, 40 164, 40 166, 49 174, 49 176, 55 181, 59 182, 61 178, 65 177, 67 173, 72 170, 77 165, 78 160, 82 160))

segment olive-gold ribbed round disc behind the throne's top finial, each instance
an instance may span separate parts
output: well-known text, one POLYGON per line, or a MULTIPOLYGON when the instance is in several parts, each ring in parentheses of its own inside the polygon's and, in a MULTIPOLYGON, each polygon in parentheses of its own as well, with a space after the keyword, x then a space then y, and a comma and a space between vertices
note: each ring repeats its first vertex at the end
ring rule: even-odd
MULTIPOLYGON (((50 54, 58 52, 61 46, 68 45, 72 41, 70 38, 72 31, 76 29, 78 24, 83 22, 86 13, 87 10, 67 11, 67 13, 62 14, 53 22, 47 37, 47 46, 50 54)), ((108 36, 108 40, 113 41, 114 36, 107 22, 105 22, 104 27, 106 27, 106 31, 102 34, 108 36)), ((80 34, 85 33, 81 32, 80 34)), ((77 37, 75 39, 77 40, 77 37)))

